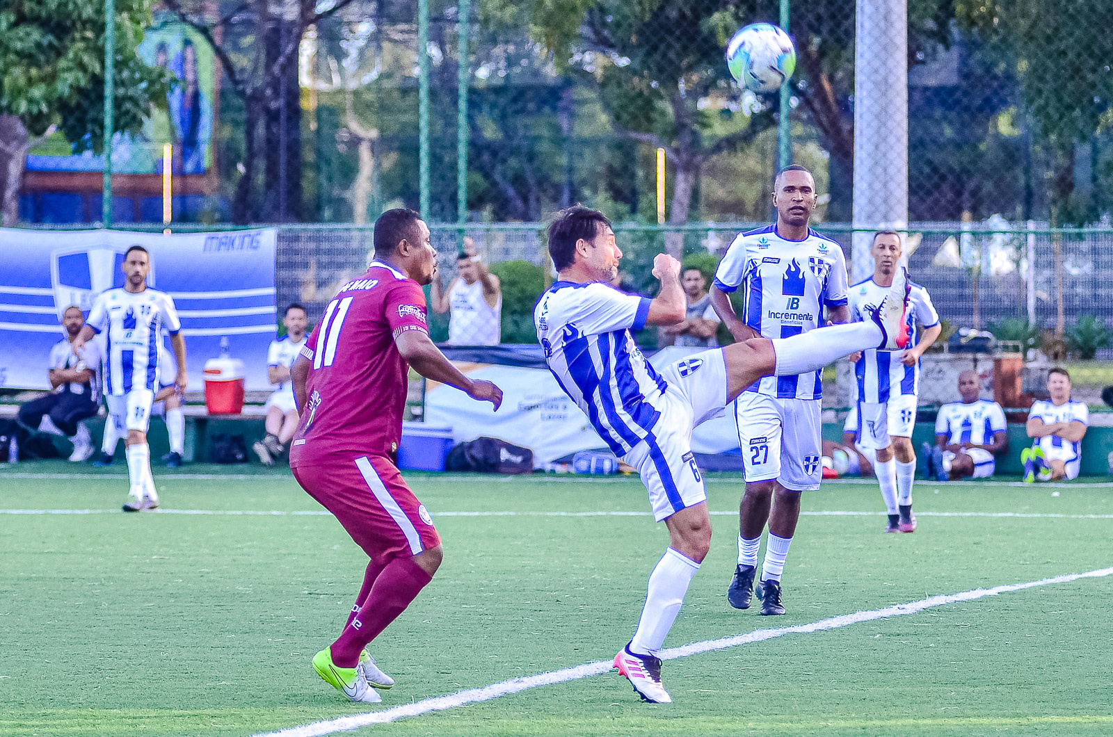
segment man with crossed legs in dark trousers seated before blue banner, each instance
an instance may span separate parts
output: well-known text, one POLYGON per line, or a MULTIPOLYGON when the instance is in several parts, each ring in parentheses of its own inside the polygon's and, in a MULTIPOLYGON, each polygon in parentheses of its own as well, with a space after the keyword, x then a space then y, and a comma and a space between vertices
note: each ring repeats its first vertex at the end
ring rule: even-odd
POLYGON ((81 420, 97 414, 100 400, 100 355, 97 346, 87 343, 75 353, 72 343, 81 327, 85 316, 81 308, 70 305, 62 312, 62 327, 66 337, 50 350, 50 380, 52 392, 37 400, 31 400, 19 407, 17 419, 21 425, 31 432, 50 432, 65 435, 73 443, 70 461, 83 461, 92 455, 92 440, 89 429, 81 420))

